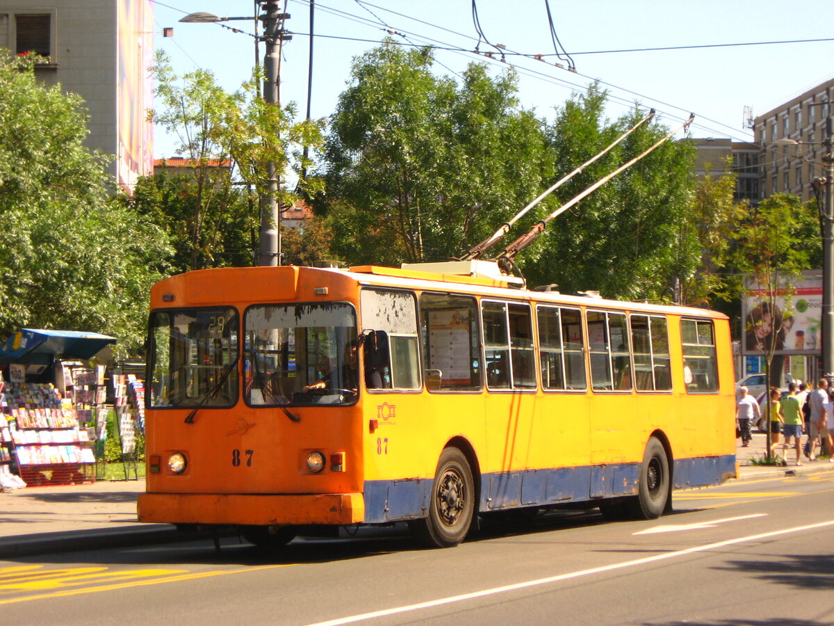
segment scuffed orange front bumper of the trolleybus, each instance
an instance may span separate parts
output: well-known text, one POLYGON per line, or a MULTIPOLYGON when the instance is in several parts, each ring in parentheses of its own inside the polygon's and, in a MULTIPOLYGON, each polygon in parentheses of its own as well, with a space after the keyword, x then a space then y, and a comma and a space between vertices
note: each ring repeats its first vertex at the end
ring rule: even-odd
POLYGON ((139 522, 168 524, 354 524, 364 521, 361 493, 140 493, 139 522))

